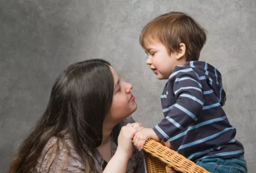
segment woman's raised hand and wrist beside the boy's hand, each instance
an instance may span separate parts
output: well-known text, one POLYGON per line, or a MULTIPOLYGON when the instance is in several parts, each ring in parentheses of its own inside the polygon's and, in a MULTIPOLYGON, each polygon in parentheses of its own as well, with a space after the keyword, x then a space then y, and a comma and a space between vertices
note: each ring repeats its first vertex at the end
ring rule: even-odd
POLYGON ((135 133, 144 128, 140 123, 127 124, 123 126, 118 136, 117 152, 130 160, 133 154, 132 139, 135 133))

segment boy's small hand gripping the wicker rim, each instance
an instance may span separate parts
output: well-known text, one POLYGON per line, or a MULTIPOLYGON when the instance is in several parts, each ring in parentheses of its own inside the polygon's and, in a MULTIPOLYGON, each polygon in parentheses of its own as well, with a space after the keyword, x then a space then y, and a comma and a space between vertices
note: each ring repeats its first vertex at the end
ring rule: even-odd
POLYGON ((148 139, 153 139, 155 141, 160 141, 161 139, 157 136, 157 134, 153 131, 153 128, 142 128, 138 131, 134 137, 134 145, 138 150, 143 149, 143 145, 148 139))

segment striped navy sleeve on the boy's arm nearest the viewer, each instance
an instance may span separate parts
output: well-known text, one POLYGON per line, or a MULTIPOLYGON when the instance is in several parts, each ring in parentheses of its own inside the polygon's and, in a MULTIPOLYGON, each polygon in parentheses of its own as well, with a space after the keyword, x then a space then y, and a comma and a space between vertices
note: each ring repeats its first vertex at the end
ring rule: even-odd
MULTIPOLYGON (((177 102, 163 109, 164 114, 167 114, 166 117, 153 128, 164 142, 177 139, 179 136, 175 135, 194 123, 203 109, 204 97, 199 76, 192 68, 186 69, 191 69, 191 71, 180 70, 171 75, 168 81, 169 86, 167 86, 167 89, 171 90, 167 91, 175 94, 177 102)), ((170 93, 162 97, 162 99, 167 99, 162 101, 171 100, 172 98, 169 97, 172 94, 170 93)))

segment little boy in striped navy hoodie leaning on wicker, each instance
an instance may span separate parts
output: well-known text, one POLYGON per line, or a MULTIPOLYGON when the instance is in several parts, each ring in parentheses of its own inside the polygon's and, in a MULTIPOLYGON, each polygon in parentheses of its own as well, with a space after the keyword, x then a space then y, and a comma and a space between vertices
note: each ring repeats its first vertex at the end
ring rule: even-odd
POLYGON ((161 96, 164 119, 134 136, 142 149, 148 139, 170 141, 171 148, 210 172, 247 172, 243 145, 225 111, 221 74, 198 61, 205 30, 190 16, 166 13, 140 34, 147 65, 159 80, 168 80, 161 96))

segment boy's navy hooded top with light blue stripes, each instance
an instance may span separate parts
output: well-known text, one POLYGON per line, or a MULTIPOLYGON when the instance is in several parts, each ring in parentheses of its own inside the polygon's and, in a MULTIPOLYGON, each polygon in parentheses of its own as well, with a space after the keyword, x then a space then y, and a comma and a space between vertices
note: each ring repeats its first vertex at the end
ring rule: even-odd
POLYGON ((161 96, 164 119, 153 129, 173 150, 196 161, 244 154, 222 106, 221 74, 205 62, 176 66, 161 96))

